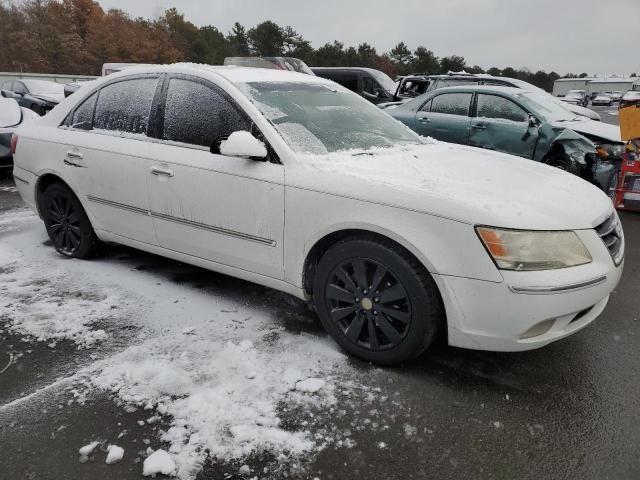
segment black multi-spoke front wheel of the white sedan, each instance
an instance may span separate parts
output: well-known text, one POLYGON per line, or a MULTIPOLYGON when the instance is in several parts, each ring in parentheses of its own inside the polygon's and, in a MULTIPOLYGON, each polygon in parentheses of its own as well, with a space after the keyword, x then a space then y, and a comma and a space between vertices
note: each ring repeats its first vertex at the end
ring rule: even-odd
POLYGON ((433 278, 404 250, 375 237, 347 238, 325 252, 313 302, 345 351, 379 365, 418 356, 445 323, 433 278))

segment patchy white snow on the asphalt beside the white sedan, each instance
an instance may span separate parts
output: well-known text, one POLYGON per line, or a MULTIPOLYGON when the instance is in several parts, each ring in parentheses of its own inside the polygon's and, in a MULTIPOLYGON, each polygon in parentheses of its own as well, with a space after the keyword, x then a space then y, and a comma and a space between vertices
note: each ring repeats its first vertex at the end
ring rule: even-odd
MULTIPOLYGON (((72 342, 99 350, 89 365, 66 372, 76 396, 106 392, 127 411, 144 410, 148 423, 165 421, 160 440, 179 478, 193 478, 207 457, 309 458, 349 444, 305 422, 284 428, 281 419, 287 411, 331 415, 336 390, 358 388, 326 336, 288 332, 250 295, 177 285, 113 258, 65 259, 46 240, 35 215, 0 215, 0 328, 52 349, 72 342), (114 342, 110 332, 123 323, 130 338, 114 342)), ((107 463, 126 456, 111 448, 107 463)))

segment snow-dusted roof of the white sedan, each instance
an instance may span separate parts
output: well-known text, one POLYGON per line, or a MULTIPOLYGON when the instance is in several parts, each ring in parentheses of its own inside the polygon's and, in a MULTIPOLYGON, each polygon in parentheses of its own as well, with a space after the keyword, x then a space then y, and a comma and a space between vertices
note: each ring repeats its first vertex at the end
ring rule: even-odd
POLYGON ((205 74, 222 77, 231 83, 250 82, 295 82, 295 83, 327 83, 331 80, 307 75, 305 73, 292 72, 290 70, 239 67, 235 65, 205 65, 201 63, 173 63, 170 65, 144 65, 131 67, 121 72, 112 73, 105 79, 127 77, 144 73, 183 73, 205 74))

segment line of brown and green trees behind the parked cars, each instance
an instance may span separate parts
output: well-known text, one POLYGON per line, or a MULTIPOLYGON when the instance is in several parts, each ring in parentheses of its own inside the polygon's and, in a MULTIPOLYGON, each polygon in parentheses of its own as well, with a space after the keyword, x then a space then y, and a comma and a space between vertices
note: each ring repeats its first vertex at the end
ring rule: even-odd
POLYGON ((556 72, 526 68, 485 70, 462 56, 438 57, 404 42, 389 52, 366 42, 346 47, 337 40, 313 48, 293 27, 269 20, 248 29, 236 22, 224 33, 212 25, 197 27, 175 8, 152 20, 133 18, 122 10, 105 12, 93 0, 0 0, 0 45, 0 71, 11 72, 99 75, 106 62, 220 65, 227 56, 262 55, 297 57, 310 66, 371 67, 392 78, 418 72, 488 73, 548 91, 560 78, 556 72))

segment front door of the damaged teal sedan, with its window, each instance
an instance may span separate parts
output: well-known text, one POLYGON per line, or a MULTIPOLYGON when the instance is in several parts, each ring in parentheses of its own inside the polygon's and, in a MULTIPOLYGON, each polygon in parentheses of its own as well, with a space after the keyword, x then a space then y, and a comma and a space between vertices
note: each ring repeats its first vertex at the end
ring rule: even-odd
POLYGON ((471 120, 469 144, 533 158, 538 128, 529 125, 529 113, 509 98, 478 93, 471 120))

